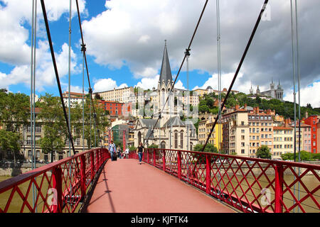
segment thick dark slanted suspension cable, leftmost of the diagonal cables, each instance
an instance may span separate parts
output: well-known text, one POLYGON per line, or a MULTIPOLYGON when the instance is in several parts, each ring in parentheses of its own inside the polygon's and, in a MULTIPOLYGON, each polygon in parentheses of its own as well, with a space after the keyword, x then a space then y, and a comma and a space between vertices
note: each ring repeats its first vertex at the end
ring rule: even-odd
POLYGON ((41 7, 42 7, 42 11, 43 11, 43 18, 44 18, 44 21, 45 21, 45 24, 46 24, 48 42, 49 42, 49 46, 50 46, 51 57, 52 57, 52 60, 53 60, 53 68, 55 70, 55 77, 57 79, 58 89, 59 89, 59 93, 60 93, 60 99, 61 99, 61 103, 62 103, 62 106, 63 106, 63 114, 65 116, 65 122, 66 122, 67 128, 68 128, 69 140, 71 141, 71 145, 73 147, 73 155, 75 155, 75 145, 73 144, 73 135, 71 134, 70 127, 69 127, 68 114, 67 114, 67 111, 65 110, 65 102, 63 101, 63 93, 62 93, 62 89, 61 89, 61 85, 60 85, 58 67, 57 67, 57 64, 55 62, 55 52, 53 50, 53 44, 52 44, 52 40, 51 40, 50 28, 49 28, 49 24, 48 24, 48 18, 47 18, 47 12, 46 12, 46 6, 44 4, 44 0, 41 0, 41 7))

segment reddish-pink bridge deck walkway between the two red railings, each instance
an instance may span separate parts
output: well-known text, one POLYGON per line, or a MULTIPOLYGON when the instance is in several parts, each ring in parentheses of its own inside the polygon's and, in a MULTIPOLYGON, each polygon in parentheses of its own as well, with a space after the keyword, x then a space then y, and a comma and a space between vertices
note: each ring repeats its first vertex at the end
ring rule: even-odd
POLYGON ((89 213, 230 213, 228 206, 146 163, 108 160, 89 213))

